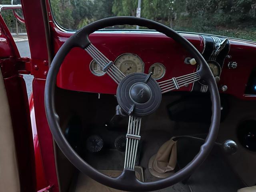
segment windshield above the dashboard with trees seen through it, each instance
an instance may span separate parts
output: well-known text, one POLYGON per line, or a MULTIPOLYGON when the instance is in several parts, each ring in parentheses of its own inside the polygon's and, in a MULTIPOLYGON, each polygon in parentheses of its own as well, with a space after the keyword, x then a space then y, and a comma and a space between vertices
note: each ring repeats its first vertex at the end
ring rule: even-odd
MULTIPOLYGON (((255 0, 51 0, 51 6, 54 19, 67 30, 112 16, 140 16, 176 31, 256 41, 255 0)), ((120 28, 136 26, 108 29, 120 28)))

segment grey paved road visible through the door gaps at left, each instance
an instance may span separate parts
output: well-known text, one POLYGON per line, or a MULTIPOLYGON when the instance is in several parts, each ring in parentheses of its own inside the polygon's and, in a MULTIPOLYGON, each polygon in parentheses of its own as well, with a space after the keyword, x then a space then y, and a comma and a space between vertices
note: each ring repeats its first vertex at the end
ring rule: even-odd
MULTIPOLYGON (((23 41, 23 42, 16 42, 16 45, 18 47, 18 50, 20 52, 20 56, 22 57, 30 57, 30 50, 28 46, 28 41, 23 41)), ((28 92, 28 97, 32 93, 32 80, 33 76, 32 75, 23 75, 23 78, 26 82, 26 87, 27 87, 27 92, 28 92)))

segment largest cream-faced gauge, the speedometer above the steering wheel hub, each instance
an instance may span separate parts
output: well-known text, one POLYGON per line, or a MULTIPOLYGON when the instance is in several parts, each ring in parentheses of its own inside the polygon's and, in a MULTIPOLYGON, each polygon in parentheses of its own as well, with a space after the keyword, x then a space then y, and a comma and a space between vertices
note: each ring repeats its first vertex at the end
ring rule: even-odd
POLYGON ((135 54, 125 53, 116 58, 114 65, 126 76, 132 73, 143 73, 144 62, 135 54))

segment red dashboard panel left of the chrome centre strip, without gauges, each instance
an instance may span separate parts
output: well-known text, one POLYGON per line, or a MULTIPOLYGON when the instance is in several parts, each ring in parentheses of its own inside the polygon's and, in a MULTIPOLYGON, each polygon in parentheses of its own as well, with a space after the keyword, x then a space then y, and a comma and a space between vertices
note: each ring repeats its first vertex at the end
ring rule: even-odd
MULTIPOLYGON (((202 52, 204 44, 201 36, 184 37, 202 52)), ((146 74, 148 74, 152 64, 156 62, 164 64, 166 74, 158 81, 196 71, 196 66, 184 64, 184 59, 190 54, 180 44, 164 34, 98 32, 91 34, 89 38, 92 44, 113 62, 121 54, 137 54, 145 64, 144 73, 146 74)), ((66 38, 59 36, 58 40, 58 44, 55 47, 56 51, 66 38)), ((62 63, 58 74, 57 86, 68 90, 116 94, 117 84, 107 74, 99 77, 90 72, 89 64, 91 61, 92 58, 85 50, 73 48, 62 63)), ((192 84, 180 90, 189 91, 191 89, 192 84)))

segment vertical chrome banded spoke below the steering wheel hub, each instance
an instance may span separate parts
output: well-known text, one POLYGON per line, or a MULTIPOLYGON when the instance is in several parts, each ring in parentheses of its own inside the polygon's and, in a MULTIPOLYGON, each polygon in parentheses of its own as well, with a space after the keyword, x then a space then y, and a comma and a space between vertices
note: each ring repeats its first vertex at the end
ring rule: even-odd
POLYGON ((126 134, 126 150, 124 169, 134 170, 138 142, 140 140, 141 117, 129 116, 128 131, 126 134))

